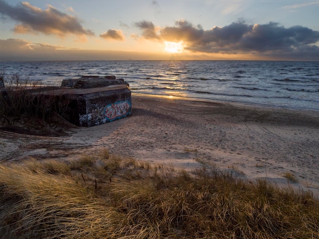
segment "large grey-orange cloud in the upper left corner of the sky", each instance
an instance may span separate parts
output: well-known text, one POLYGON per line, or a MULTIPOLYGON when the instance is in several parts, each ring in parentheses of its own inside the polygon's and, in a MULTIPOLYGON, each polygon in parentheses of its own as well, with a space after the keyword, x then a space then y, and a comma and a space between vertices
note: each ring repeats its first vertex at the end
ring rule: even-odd
POLYGON ((81 25, 79 19, 62 13, 50 5, 47 9, 42 10, 28 2, 22 2, 12 7, 0 0, 0 14, 18 22, 14 28, 15 33, 44 33, 61 38, 70 34, 75 36, 94 35, 93 32, 81 25))

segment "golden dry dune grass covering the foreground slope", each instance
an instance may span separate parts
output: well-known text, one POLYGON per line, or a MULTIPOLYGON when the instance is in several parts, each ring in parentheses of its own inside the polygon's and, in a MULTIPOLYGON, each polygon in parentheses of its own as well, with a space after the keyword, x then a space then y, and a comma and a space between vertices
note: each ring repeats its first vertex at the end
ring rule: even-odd
POLYGON ((0 165, 4 238, 319 238, 310 192, 104 151, 0 165))

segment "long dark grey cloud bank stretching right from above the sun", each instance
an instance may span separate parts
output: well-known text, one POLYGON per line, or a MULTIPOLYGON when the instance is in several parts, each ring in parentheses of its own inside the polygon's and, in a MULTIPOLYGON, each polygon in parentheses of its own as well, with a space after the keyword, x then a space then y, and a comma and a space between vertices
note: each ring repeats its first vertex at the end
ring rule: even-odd
POLYGON ((149 21, 135 23, 142 38, 154 41, 183 42, 191 52, 223 54, 296 55, 311 54, 317 58, 319 32, 303 26, 285 28, 276 22, 248 24, 233 22, 224 27, 204 30, 201 25, 179 20, 174 26, 155 28, 149 21), (312 52, 312 53, 311 53, 312 52))

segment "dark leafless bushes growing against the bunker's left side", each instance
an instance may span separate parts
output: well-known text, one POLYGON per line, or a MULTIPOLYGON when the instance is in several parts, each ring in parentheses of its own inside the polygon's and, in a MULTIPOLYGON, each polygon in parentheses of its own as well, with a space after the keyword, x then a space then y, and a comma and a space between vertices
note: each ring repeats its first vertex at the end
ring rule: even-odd
MULTIPOLYGON (((3 74, 5 75, 5 74, 3 74)), ((0 124, 14 125, 30 119, 50 123, 53 115, 62 115, 69 103, 64 97, 45 94, 48 85, 13 74, 0 88, 0 124)))

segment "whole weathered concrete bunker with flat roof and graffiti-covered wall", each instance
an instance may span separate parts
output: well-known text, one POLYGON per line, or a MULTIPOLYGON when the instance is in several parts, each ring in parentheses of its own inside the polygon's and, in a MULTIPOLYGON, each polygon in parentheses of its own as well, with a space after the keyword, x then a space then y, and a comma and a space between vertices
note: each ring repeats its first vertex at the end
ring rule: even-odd
MULTIPOLYGON (((3 96, 17 90, 4 84, 0 87, 3 96)), ((129 84, 115 76, 83 76, 65 79, 61 86, 27 87, 22 91, 47 111, 51 107, 63 108, 59 114, 77 126, 97 126, 131 114, 129 84)))

